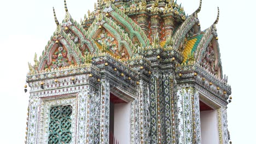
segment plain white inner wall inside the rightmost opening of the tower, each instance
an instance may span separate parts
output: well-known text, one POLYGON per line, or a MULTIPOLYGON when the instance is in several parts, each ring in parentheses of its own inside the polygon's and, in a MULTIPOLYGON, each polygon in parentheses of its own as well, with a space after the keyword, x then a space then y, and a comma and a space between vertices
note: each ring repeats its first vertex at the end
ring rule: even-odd
POLYGON ((219 143, 217 111, 200 112, 202 144, 219 143))

